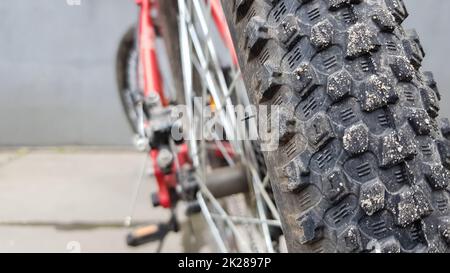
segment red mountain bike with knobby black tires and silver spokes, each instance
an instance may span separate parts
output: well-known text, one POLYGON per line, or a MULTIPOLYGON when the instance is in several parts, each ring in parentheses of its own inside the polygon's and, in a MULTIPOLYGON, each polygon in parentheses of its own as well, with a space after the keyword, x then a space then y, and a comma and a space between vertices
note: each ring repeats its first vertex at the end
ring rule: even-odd
POLYGON ((449 250, 450 123, 403 1, 136 3, 117 75, 154 205, 221 252, 449 250))

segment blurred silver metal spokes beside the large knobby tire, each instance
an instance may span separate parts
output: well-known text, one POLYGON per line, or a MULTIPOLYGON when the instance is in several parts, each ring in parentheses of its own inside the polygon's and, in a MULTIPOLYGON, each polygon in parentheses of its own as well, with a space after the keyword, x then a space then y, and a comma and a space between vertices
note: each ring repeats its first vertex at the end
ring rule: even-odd
MULTIPOLYGON (((178 5, 180 12, 179 34, 182 43, 183 86, 190 125, 189 149, 196 170, 195 176, 200 187, 197 200, 202 214, 222 252, 228 251, 227 247, 232 246, 226 243, 226 238, 230 238, 230 231, 239 251, 258 251, 259 248, 267 252, 274 252, 269 226, 280 227, 279 215, 265 189, 267 186, 266 180, 264 179, 265 184, 263 184, 259 177, 252 144, 249 140, 245 140, 245 126, 241 127, 241 122, 247 120, 238 123, 232 101, 232 95, 236 94, 239 101, 244 101, 245 105, 249 105, 248 98, 241 97, 246 94, 246 90, 242 84, 243 79, 240 70, 232 68, 227 72, 229 74, 225 74, 221 67, 216 46, 211 36, 212 18, 209 1, 205 3, 203 0, 178 0, 178 5), (198 73, 201 79, 200 90, 194 90, 194 75, 197 76, 195 73, 198 73), (231 79, 231 82, 227 83, 226 78, 231 79), (193 99, 199 93, 203 99, 193 99), (229 203, 224 201, 222 205, 205 185, 207 170, 211 168, 208 162, 210 151, 208 145, 211 144, 211 141, 206 141, 205 136, 202 135, 203 130, 200 130, 201 138, 196 138, 196 125, 205 123, 203 114, 199 116, 197 113, 203 113, 204 107, 210 107, 205 100, 208 95, 213 99, 214 114, 218 117, 220 126, 228 137, 233 155, 224 146, 224 140, 220 139, 217 133, 212 134, 212 142, 229 166, 237 164, 234 157, 238 156, 238 160, 245 162, 248 167, 247 175, 249 176, 248 181, 251 181, 249 182, 249 188, 252 197, 250 198, 252 201, 250 207, 246 202, 234 202, 234 200, 245 201, 244 195, 239 195, 239 197, 244 198, 242 200, 236 199, 236 196, 227 197, 226 201, 229 203), (244 140, 242 141, 242 139, 244 140), (239 204, 241 207, 245 206, 245 208, 239 208, 239 204), (268 219, 269 214, 274 220, 268 219), (225 226, 216 221, 222 222, 225 226), (240 228, 236 226, 237 224, 240 228), (254 239, 259 240, 261 244, 255 243, 254 239)), ((251 129, 256 130, 254 127, 251 127, 251 129)))

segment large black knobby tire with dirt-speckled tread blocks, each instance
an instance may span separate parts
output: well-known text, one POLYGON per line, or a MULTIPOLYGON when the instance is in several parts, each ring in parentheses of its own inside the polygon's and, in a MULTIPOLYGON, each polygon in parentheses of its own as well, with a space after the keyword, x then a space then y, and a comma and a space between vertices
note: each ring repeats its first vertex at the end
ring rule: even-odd
POLYGON ((222 2, 249 97, 287 117, 265 159, 289 251, 449 251, 450 126, 403 2, 222 2))

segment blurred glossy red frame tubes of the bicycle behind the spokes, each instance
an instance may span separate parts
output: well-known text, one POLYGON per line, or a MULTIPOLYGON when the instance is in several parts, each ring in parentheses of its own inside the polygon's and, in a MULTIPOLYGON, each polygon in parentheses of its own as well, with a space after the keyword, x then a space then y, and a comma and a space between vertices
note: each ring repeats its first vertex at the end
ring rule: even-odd
MULTIPOLYGON (((139 68, 142 75, 142 88, 144 97, 148 97, 152 93, 157 93, 160 97, 162 105, 167 107, 169 101, 164 95, 163 83, 161 78, 161 71, 159 69, 158 56, 156 52, 156 30, 155 24, 152 18, 152 11, 158 10, 157 0, 135 0, 136 4, 140 7, 139 24, 138 24, 138 44, 139 44, 139 68)), ((162 0, 164 1, 164 0, 162 0)), ((210 0, 211 15, 213 21, 219 31, 221 39, 230 51, 233 64, 238 65, 238 59, 236 51, 234 49, 231 34, 228 29, 228 25, 225 19, 225 15, 222 10, 220 0, 210 0)), ((158 149, 152 149, 150 151, 150 157, 153 162, 157 161, 159 155, 158 149)), ((177 156, 179 161, 186 163, 187 158, 187 145, 182 144, 179 147, 177 156)), ((172 167, 172 174, 164 174, 157 164, 154 164, 154 173, 158 183, 159 191, 158 198, 159 204, 164 208, 170 208, 172 202, 170 200, 170 189, 176 186, 176 177, 173 175, 176 173, 175 165, 172 167)))

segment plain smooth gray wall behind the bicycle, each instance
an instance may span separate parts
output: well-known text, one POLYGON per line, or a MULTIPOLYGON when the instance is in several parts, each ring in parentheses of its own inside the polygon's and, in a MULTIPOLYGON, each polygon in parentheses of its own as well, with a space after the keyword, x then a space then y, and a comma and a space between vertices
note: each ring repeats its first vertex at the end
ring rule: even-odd
MULTIPOLYGON (((132 0, 0 1, 0 145, 130 143, 114 56, 132 0)), ((450 1, 405 0, 450 116, 450 1)))

